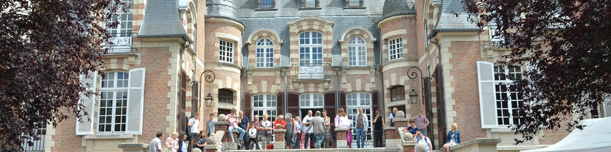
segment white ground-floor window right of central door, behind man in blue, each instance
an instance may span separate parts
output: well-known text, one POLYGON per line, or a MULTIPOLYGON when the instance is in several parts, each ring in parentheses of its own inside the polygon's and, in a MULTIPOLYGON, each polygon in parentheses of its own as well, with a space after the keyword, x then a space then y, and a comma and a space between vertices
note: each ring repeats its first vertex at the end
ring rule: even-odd
MULTIPOLYGON (((367 130, 371 131, 371 120, 373 120, 371 117, 371 94, 355 92, 346 95, 346 115, 352 123, 351 126, 353 130, 356 130, 356 120, 358 119, 359 108, 363 108, 363 113, 368 117, 369 120, 365 123, 369 126, 367 130)), ((356 134, 353 134, 353 139, 356 139, 356 134)), ((370 137, 367 139, 370 139, 370 137)))

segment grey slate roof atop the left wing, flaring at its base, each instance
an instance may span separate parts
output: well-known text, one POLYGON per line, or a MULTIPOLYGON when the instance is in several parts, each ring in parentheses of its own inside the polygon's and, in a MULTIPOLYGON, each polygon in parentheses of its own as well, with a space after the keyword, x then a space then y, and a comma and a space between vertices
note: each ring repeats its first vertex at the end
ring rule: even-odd
POLYGON ((192 42, 181 24, 176 0, 148 0, 144 14, 138 37, 180 36, 192 42))

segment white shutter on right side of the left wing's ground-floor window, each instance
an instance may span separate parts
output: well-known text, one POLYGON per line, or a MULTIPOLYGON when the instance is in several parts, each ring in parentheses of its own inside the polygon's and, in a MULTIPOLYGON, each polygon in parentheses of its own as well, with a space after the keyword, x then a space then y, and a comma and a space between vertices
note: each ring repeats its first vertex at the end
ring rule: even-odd
POLYGON ((144 106, 145 68, 131 69, 127 89, 126 134, 142 134, 142 110, 144 106))

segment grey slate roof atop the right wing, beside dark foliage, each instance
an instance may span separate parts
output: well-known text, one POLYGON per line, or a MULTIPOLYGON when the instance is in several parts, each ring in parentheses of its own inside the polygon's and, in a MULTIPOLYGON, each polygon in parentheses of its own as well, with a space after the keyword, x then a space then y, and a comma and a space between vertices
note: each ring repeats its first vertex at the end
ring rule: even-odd
POLYGON ((429 37, 434 36, 437 32, 476 32, 480 30, 477 23, 468 20, 470 15, 477 22, 477 16, 467 13, 463 9, 461 0, 442 0, 441 4, 441 16, 429 33, 429 37), (452 12, 459 13, 458 17, 452 12))

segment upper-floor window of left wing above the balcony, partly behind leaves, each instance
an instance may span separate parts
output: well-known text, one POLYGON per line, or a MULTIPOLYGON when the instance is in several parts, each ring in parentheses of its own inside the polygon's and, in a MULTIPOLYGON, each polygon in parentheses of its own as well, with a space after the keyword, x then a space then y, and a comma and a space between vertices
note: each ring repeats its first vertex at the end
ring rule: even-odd
POLYGON ((106 26, 106 30, 108 30, 108 33, 113 37, 131 36, 131 26, 134 20, 134 0, 122 0, 122 2, 125 4, 121 7, 127 9, 128 12, 112 15, 112 21, 119 21, 117 27, 106 26))

